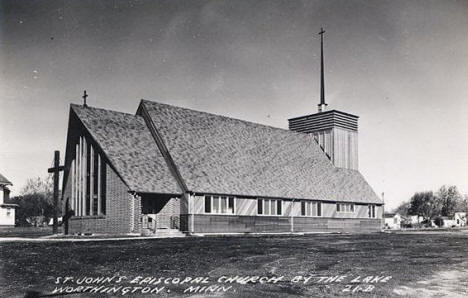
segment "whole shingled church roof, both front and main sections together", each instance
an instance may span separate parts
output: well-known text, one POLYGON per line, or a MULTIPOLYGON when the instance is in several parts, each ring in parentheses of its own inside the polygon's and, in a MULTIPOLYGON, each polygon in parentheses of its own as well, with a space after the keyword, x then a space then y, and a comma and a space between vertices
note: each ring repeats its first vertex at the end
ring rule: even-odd
MULTIPOLYGON (((152 101, 140 104, 191 192, 382 203, 358 171, 334 167, 311 135, 152 101)), ((71 108, 131 190, 182 192, 142 116, 71 108)))

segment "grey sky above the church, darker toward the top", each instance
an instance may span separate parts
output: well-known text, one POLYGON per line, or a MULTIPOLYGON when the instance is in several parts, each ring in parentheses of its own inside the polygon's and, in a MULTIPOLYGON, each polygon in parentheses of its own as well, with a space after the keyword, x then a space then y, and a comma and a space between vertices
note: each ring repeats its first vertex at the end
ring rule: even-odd
POLYGON ((18 193, 64 153, 70 103, 141 98, 287 128, 359 119, 360 171, 387 208, 468 192, 468 1, 1 1, 0 173, 18 193))

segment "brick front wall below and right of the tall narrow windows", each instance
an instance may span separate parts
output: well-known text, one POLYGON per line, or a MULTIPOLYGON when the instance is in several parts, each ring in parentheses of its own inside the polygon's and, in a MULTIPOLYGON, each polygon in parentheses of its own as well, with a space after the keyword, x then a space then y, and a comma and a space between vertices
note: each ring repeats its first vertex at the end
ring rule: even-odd
MULTIPOLYGON (((128 187, 111 167, 107 166, 106 169, 106 214, 72 217, 69 224, 70 234, 127 234, 140 232, 141 200, 128 193, 128 187), (133 204, 131 203, 132 200, 133 204), (133 208, 131 209, 132 205, 133 208), (133 213, 133 217, 131 213, 133 213), (133 223, 131 222, 132 218, 133 223)), ((68 185, 70 183, 67 183, 67 188, 68 185)))

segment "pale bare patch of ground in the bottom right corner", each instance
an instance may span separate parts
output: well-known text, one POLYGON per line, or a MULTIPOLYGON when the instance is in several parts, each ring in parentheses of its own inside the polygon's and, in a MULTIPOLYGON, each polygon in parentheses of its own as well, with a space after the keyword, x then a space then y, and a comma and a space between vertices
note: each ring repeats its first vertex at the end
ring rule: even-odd
POLYGON ((451 270, 439 271, 413 286, 399 286, 393 293, 405 297, 467 297, 468 262, 451 270))

